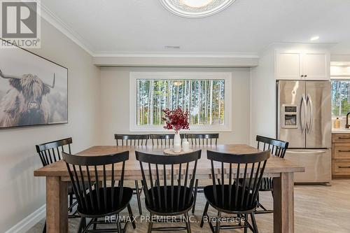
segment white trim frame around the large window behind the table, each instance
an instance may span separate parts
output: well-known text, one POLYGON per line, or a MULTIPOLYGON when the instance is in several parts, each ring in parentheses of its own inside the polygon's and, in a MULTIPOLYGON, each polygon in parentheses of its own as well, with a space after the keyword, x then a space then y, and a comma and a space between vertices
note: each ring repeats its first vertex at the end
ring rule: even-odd
POLYGON ((229 72, 130 72, 130 132, 169 132, 158 125, 138 126, 136 122, 137 79, 223 79, 225 80, 225 124, 190 125, 190 132, 232 131, 232 74, 229 72))

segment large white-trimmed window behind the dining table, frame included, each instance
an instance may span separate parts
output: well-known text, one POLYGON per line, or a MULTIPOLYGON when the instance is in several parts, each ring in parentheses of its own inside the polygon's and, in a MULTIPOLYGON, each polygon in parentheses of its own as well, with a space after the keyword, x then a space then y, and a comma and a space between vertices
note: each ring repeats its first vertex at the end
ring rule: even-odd
POLYGON ((131 131, 164 131, 165 108, 190 115, 191 131, 230 130, 230 73, 130 74, 131 131))

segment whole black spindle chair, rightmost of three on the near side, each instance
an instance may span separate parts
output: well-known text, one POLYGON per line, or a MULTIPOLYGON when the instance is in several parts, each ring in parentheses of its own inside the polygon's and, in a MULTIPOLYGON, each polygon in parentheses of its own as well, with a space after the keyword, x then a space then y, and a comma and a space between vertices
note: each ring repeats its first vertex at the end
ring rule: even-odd
POLYGON ((206 216, 212 232, 218 233, 221 229, 236 228, 244 228, 244 232, 247 232, 249 228, 254 233, 258 233, 254 212, 270 152, 266 150, 260 153, 237 155, 207 150, 207 158, 211 161, 213 185, 204 188, 207 204, 204 207, 201 227, 204 225, 204 216, 206 216), (221 182, 216 183, 217 179, 221 182), (225 179, 228 179, 226 180, 228 183, 225 183, 225 179), (215 227, 207 213, 209 204, 218 211, 215 227), (237 215, 239 224, 221 225, 221 213, 237 215), (251 217, 251 223, 248 222, 248 215, 251 217), (243 221, 241 221, 242 218, 243 221))

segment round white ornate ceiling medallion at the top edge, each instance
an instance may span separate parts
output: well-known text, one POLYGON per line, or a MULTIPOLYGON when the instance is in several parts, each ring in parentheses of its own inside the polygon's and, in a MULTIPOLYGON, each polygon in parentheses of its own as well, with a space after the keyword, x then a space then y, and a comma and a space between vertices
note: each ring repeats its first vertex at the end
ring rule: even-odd
POLYGON ((160 0, 162 5, 181 17, 208 17, 228 8, 235 0, 160 0))

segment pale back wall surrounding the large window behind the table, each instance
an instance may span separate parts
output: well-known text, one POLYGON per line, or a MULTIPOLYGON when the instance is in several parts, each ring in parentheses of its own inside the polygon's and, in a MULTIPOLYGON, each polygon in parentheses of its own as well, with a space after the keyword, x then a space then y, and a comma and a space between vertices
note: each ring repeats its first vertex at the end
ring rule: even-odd
MULTIPOLYGON (((129 131, 129 81, 130 71, 223 71, 232 72, 232 132, 221 132, 220 143, 249 143, 250 141, 250 69, 212 68, 117 68, 101 69, 101 114, 99 142, 116 143, 113 134, 129 131)), ((133 132, 135 133, 135 132, 133 132)), ((151 132, 150 132, 151 133, 151 132)))

